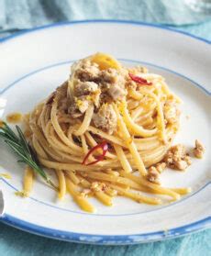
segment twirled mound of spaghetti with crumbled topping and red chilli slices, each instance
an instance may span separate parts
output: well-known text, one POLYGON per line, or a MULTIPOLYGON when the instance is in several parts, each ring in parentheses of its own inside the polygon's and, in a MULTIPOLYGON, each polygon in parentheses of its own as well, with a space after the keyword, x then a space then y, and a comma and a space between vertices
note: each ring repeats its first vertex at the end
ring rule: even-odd
POLYGON ((74 63, 69 80, 26 116, 26 133, 40 163, 56 172, 60 198, 69 192, 88 212, 89 196, 106 206, 116 195, 159 205, 145 193, 172 201, 189 192, 148 179, 178 131, 179 102, 160 75, 96 53, 74 63))

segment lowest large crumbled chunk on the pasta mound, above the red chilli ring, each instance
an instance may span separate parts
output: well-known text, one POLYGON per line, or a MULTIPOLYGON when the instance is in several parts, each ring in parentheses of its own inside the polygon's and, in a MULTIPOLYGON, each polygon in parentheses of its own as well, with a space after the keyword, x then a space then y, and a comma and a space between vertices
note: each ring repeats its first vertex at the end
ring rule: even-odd
POLYGON ((112 134, 117 128, 117 114, 113 107, 104 104, 93 117, 94 126, 112 134))

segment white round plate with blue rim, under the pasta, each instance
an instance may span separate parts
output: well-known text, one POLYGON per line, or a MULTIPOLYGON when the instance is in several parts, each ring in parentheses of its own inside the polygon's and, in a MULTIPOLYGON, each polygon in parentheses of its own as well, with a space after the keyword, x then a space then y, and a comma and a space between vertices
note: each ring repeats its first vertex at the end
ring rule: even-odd
POLYGON ((72 61, 103 51, 127 65, 143 64, 161 73, 183 99, 182 128, 177 141, 193 147, 205 144, 204 160, 194 160, 185 173, 162 174, 166 186, 192 186, 193 193, 166 206, 136 204, 116 198, 113 207, 100 205, 95 214, 82 212, 66 196, 56 195, 40 182, 28 199, 18 198, 23 167, 0 144, 0 173, 6 198, 2 221, 55 239, 97 244, 127 244, 177 237, 210 225, 210 90, 211 48, 207 41, 147 24, 89 21, 30 30, 0 45, 0 117, 28 112, 68 78, 72 61), (190 116, 187 118, 186 116, 190 116))

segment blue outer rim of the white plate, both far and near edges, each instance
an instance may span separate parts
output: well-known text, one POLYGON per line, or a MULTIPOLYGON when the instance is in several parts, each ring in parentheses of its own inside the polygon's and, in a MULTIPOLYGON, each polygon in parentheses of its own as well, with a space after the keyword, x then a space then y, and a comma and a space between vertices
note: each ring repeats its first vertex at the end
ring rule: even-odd
MULTIPOLYGON (((202 39, 192 34, 189 34, 187 32, 164 27, 162 25, 139 22, 139 21, 112 20, 112 19, 110 20, 107 20, 107 19, 106 20, 104 19, 78 20, 78 21, 72 21, 72 22, 55 23, 47 26, 38 27, 38 28, 31 28, 24 32, 18 32, 12 36, 8 36, 4 39, 0 39, 0 43, 4 43, 10 39, 16 39, 17 37, 27 35, 28 33, 35 32, 37 30, 44 30, 48 28, 61 27, 61 26, 73 26, 73 25, 82 24, 82 23, 110 23, 110 24, 116 23, 116 24, 130 24, 135 26, 160 28, 160 29, 172 31, 173 33, 183 34, 187 37, 203 41, 206 44, 211 44, 210 40, 202 39)), ((135 234, 135 235, 108 236, 108 235, 80 234, 75 232, 62 231, 58 229, 44 228, 39 225, 29 223, 27 221, 24 221, 22 219, 19 219, 17 217, 13 217, 7 214, 4 217, 2 217, 0 221, 12 227, 19 228, 19 229, 28 231, 30 233, 41 235, 51 239, 61 239, 61 240, 67 240, 72 242, 91 243, 91 244, 136 244, 136 243, 149 242, 149 241, 155 241, 155 240, 161 240, 161 239, 171 239, 171 238, 177 238, 192 232, 196 232, 205 228, 209 228, 211 225, 211 217, 205 217, 191 224, 184 225, 179 228, 172 228, 169 230, 161 230, 157 232, 149 232, 149 233, 135 234)))

